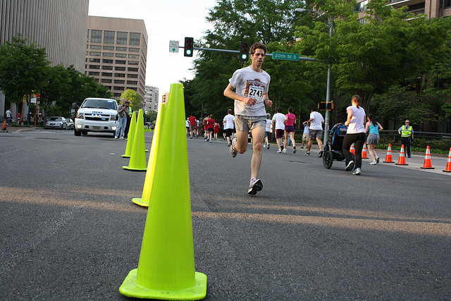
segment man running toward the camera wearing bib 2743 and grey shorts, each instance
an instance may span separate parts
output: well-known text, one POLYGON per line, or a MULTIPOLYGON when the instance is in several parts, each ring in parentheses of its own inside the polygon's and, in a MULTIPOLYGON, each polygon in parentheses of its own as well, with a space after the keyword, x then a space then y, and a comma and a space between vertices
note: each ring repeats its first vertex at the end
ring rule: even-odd
POLYGON ((235 99, 235 128, 237 137, 232 140, 230 154, 244 154, 247 150, 247 135, 252 132, 251 180, 249 195, 255 195, 263 188, 257 178, 261 165, 261 142, 266 130, 266 109, 273 102, 269 99, 268 90, 271 76, 261 69, 266 56, 266 45, 254 43, 249 49, 251 66, 236 70, 224 90, 224 96, 235 99), (236 89, 236 92, 233 90, 236 89))

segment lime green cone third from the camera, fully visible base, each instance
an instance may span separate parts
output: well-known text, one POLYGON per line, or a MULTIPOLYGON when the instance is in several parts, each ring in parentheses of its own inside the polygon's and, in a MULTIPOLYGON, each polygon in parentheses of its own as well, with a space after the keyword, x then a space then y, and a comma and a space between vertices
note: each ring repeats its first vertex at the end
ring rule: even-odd
POLYGON ((128 166, 122 166, 130 171, 145 171, 146 167, 146 141, 144 138, 144 118, 142 110, 138 113, 135 135, 133 135, 132 154, 128 166))

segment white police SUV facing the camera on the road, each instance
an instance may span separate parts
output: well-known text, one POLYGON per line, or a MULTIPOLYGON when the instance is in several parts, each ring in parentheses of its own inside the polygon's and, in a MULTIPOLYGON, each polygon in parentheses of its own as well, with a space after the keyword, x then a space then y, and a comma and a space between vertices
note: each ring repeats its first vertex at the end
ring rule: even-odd
POLYGON ((75 115, 75 136, 88 132, 116 133, 118 103, 115 99, 87 98, 75 115))

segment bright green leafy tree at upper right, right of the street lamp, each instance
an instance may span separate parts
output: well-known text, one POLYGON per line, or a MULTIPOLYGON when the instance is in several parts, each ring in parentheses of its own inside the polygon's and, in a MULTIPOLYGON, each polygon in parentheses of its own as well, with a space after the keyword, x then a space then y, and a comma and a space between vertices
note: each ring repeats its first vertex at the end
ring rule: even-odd
POLYGON ((433 63, 449 54, 445 47, 449 20, 428 20, 426 15, 413 18, 404 8, 385 4, 385 0, 372 0, 366 17, 359 20, 352 13, 352 2, 333 6, 324 1, 315 8, 327 11, 325 18, 333 20, 333 37, 323 22, 297 28, 304 47, 313 49, 319 61, 332 63, 338 89, 359 94, 366 111, 375 94, 387 92, 405 78, 428 73, 433 63))

